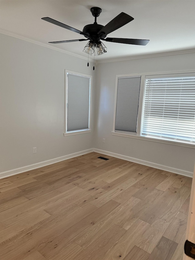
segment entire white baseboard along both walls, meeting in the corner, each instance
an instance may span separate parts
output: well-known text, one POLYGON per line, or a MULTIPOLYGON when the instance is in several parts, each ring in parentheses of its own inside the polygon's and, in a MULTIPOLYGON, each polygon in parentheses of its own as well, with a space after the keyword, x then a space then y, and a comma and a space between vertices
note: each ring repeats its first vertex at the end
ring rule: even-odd
POLYGON ((113 156, 115 158, 123 159, 123 160, 126 160, 126 161, 136 162, 136 163, 146 165, 146 166, 149 166, 149 167, 154 167, 156 169, 160 169, 160 170, 163 170, 163 171, 177 173, 177 174, 181 174, 181 175, 184 175, 184 176, 187 176, 187 177, 193 177, 193 172, 188 172, 188 171, 184 171, 184 170, 181 170, 181 169, 172 168, 172 167, 161 165, 161 164, 154 163, 154 162, 144 161, 144 160, 133 158, 133 157, 126 156, 126 155, 121 155, 121 154, 117 154, 117 153, 113 153, 113 152, 109 152, 109 151, 91 148, 91 149, 83 150, 83 151, 80 151, 80 152, 72 153, 72 154, 69 154, 69 155, 64 155, 64 156, 61 156, 61 157, 58 157, 58 158, 50 159, 50 160, 47 160, 47 161, 37 162, 37 163, 31 164, 31 165, 28 165, 28 166, 24 166, 24 167, 20 167, 20 168, 17 168, 17 169, 12 169, 12 170, 9 170, 9 171, 2 172, 2 173, 0 173, 0 179, 5 178, 5 177, 9 177, 9 176, 12 176, 12 175, 15 175, 15 174, 18 174, 18 173, 24 173, 24 172, 27 172, 27 171, 30 171, 30 170, 34 170, 34 169, 37 169, 37 168, 40 168, 40 167, 43 167, 43 166, 47 166, 47 165, 50 165, 50 164, 53 164, 53 163, 56 163, 56 162, 61 162, 61 161, 64 161, 64 160, 67 160, 67 159, 70 159, 70 158, 74 158, 74 157, 77 157, 77 156, 80 156, 80 155, 83 155, 83 154, 87 154, 87 153, 90 153, 90 152, 93 152, 93 151, 97 152, 97 153, 105 154, 105 155, 110 155, 110 156, 113 156))

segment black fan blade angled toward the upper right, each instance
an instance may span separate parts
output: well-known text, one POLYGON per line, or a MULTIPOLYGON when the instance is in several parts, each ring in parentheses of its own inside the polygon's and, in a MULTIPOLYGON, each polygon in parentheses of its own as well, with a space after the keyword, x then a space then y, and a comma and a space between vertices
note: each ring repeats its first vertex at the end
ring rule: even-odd
POLYGON ((120 27, 124 26, 125 24, 131 22, 134 18, 130 15, 121 12, 119 15, 117 15, 114 19, 112 19, 109 23, 107 23, 99 32, 98 35, 101 34, 101 32, 104 32, 104 34, 112 33, 113 31, 119 29, 120 27))

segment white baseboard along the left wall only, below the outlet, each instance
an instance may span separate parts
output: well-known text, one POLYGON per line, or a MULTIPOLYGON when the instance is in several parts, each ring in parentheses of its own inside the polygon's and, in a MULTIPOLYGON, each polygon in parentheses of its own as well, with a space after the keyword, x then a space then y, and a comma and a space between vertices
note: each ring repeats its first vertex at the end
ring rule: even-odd
POLYGON ((72 154, 69 154, 69 155, 64 155, 64 156, 57 157, 57 158, 54 158, 54 159, 46 160, 46 161, 43 161, 43 162, 37 162, 37 163, 31 164, 31 165, 12 169, 12 170, 9 170, 9 171, 5 171, 5 172, 0 173, 0 179, 5 178, 5 177, 9 177, 9 176, 12 176, 12 175, 15 175, 15 174, 18 174, 18 173, 24 173, 24 172, 27 172, 27 171, 30 171, 30 170, 34 170, 34 169, 37 169, 37 168, 40 168, 40 167, 43 167, 43 166, 47 166, 47 165, 50 165, 50 164, 53 164, 53 163, 56 163, 56 162, 61 162, 61 161, 64 161, 64 160, 67 160, 67 159, 70 159, 70 158, 74 158, 76 156, 80 156, 80 155, 83 155, 83 154, 87 154, 87 153, 90 153, 90 152, 93 152, 93 148, 83 150, 83 151, 80 151, 80 152, 76 152, 76 153, 72 153, 72 154))

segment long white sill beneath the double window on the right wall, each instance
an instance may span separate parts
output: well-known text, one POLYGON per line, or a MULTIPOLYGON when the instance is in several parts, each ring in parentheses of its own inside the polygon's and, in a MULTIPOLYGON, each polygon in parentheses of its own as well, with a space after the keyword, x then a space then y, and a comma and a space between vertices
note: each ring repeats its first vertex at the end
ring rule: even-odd
POLYGON ((118 133, 118 132, 111 132, 112 135, 118 135, 122 137, 129 137, 129 138, 136 138, 136 139, 141 139, 141 140, 146 140, 146 141, 152 141, 152 142, 157 142, 157 143, 163 143, 163 144, 172 144, 172 145, 177 145, 177 146, 184 146, 184 147, 189 147, 189 148, 195 148, 195 144, 187 144, 184 142, 179 142, 179 141, 169 141, 169 140, 162 140, 159 138, 154 138, 154 137, 144 137, 144 136, 138 136, 134 134, 125 134, 125 133, 118 133))

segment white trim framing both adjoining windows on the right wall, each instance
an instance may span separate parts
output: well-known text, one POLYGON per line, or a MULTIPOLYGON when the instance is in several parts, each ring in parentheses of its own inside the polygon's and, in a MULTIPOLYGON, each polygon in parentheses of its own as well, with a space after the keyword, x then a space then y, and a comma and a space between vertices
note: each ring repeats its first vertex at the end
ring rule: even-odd
MULTIPOLYGON (((115 136, 121 136, 121 137, 129 137, 129 138, 136 138, 140 140, 146 140, 146 141, 153 141, 153 142, 158 142, 158 143, 164 143, 164 144, 172 144, 172 145, 177 145, 177 146, 183 146, 183 147, 189 147, 189 148, 194 148, 195 149, 195 144, 193 143, 187 143, 184 141, 176 141, 176 140, 166 140, 166 139, 161 139, 159 137, 145 137, 141 135, 142 132, 142 117, 143 117, 143 111, 144 111, 144 91, 145 91, 145 80, 147 76, 176 76, 176 75, 181 75, 181 74, 188 74, 188 76, 191 76, 190 73, 194 73, 193 69, 188 69, 188 70, 177 70, 177 71, 161 71, 161 72, 151 72, 151 73, 132 73, 132 74, 120 74, 116 75, 116 80, 115 80, 115 100, 114 100, 114 117, 113 117, 113 128, 111 131, 112 135, 115 136), (141 83, 140 83, 140 97, 139 97, 139 106, 138 106, 138 115, 137 115, 137 134, 136 133, 131 133, 131 132, 119 132, 115 131, 115 116, 116 116, 116 101, 117 101, 117 88, 118 88, 118 77, 133 77, 133 76, 141 76, 141 83)), ((194 76, 194 74, 193 74, 194 76)))

